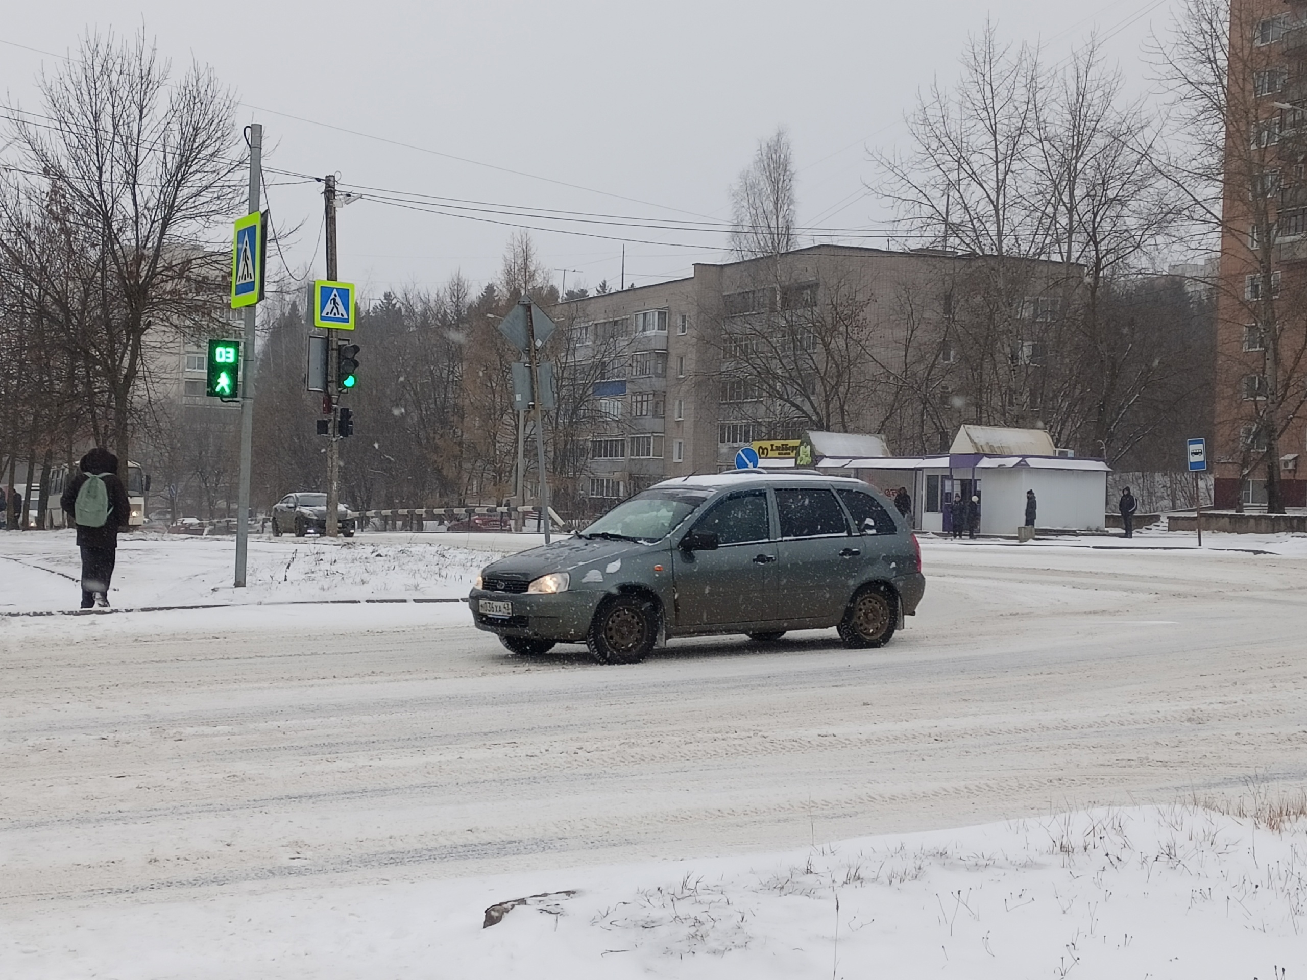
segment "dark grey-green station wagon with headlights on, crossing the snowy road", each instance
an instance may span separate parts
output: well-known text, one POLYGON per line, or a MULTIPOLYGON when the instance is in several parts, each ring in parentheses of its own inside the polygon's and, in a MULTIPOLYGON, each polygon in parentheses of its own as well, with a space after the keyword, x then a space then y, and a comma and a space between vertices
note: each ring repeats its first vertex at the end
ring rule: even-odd
POLYGON ((661 638, 723 632, 834 626, 848 647, 880 647, 924 591, 916 536, 863 481, 740 470, 663 481, 503 558, 468 605, 515 653, 584 643, 631 664, 661 638))

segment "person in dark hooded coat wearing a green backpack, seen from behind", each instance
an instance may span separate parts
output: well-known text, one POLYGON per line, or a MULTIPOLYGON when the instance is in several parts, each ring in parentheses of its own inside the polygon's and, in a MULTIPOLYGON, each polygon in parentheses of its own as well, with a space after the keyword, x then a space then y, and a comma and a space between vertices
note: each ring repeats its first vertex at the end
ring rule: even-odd
POLYGON ((108 584, 118 558, 118 532, 129 528, 132 506, 118 478, 118 456, 99 447, 82 456, 81 472, 59 498, 68 524, 77 525, 82 553, 82 609, 108 606, 108 584))

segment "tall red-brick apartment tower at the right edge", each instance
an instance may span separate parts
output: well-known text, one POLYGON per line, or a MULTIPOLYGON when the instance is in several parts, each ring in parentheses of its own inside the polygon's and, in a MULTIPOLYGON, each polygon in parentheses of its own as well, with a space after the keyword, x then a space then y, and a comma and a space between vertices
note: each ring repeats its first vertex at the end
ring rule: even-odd
POLYGON ((1307 3, 1231 4, 1217 287, 1218 507, 1307 506, 1307 3))

